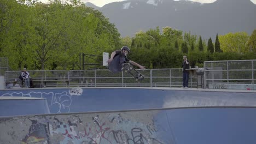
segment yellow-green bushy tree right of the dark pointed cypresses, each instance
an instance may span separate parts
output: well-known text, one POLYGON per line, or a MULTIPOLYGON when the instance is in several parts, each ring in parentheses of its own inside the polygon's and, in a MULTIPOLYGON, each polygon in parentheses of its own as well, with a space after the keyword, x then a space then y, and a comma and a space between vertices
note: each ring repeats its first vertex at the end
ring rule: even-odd
POLYGON ((249 52, 248 40, 249 36, 246 32, 228 33, 219 36, 219 42, 222 45, 223 52, 249 52))

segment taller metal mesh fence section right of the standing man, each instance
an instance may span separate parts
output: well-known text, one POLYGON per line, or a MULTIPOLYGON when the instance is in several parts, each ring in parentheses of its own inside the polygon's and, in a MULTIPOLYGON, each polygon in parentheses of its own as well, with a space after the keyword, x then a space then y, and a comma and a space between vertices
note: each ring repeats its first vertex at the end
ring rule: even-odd
POLYGON ((256 60, 204 62, 205 88, 256 89, 256 60))

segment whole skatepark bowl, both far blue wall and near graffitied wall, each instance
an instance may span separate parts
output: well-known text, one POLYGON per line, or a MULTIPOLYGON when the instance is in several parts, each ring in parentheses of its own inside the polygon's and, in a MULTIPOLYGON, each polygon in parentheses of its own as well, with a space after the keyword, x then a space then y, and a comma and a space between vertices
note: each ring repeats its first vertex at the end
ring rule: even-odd
POLYGON ((256 143, 255 91, 24 88, 0 95, 0 143, 256 143))

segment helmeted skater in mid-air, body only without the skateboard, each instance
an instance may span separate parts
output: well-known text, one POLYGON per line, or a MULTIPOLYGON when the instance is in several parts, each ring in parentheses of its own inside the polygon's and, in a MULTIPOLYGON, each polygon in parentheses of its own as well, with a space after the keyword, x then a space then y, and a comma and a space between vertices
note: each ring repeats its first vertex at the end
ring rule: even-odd
POLYGON ((116 50, 111 53, 110 59, 108 59, 108 69, 112 71, 112 73, 117 73, 122 71, 124 63, 130 63, 132 65, 136 65, 140 69, 145 69, 144 66, 131 61, 127 58, 127 55, 130 53, 130 49, 127 46, 123 46, 121 50, 116 50))

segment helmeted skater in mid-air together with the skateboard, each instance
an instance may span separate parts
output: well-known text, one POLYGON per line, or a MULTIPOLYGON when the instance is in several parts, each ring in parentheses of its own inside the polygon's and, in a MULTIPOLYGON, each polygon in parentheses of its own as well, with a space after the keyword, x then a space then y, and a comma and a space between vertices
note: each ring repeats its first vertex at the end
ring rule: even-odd
MULTIPOLYGON (((121 50, 116 50, 111 53, 110 59, 108 59, 108 69, 112 71, 112 73, 118 73, 122 70, 128 71, 129 73, 131 70, 135 70, 130 64, 136 65, 140 69, 144 70, 145 67, 131 61, 130 59, 127 58, 127 55, 130 53, 130 49, 127 46, 123 46, 121 50)), ((133 75, 135 78, 138 78, 141 74, 136 71, 136 75, 133 75)), ((143 77, 144 78, 144 77, 143 77)))

